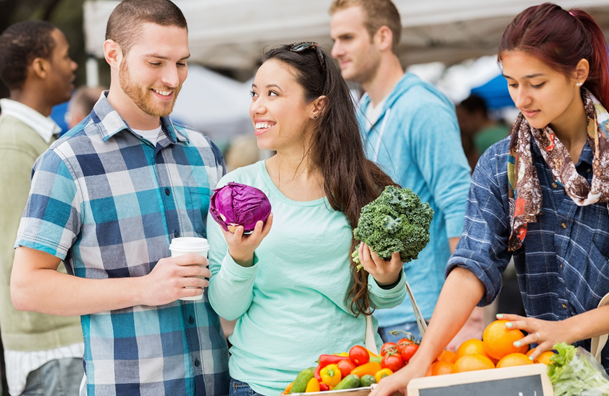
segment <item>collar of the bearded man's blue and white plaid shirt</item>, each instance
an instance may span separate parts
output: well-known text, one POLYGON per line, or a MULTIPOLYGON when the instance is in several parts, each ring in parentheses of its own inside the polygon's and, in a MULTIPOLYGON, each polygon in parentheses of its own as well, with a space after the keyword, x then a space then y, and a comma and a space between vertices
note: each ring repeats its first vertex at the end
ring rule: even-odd
MULTIPOLYGON (((108 91, 104 91, 95 106, 93 106, 93 111, 91 112, 91 118, 104 141, 107 141, 112 136, 125 129, 133 133, 133 130, 129 127, 127 122, 121 118, 110 102, 108 102, 107 95, 108 91)), ((189 141, 185 134, 174 127, 173 122, 169 117, 161 117, 161 125, 163 127, 163 132, 172 143, 189 141)))

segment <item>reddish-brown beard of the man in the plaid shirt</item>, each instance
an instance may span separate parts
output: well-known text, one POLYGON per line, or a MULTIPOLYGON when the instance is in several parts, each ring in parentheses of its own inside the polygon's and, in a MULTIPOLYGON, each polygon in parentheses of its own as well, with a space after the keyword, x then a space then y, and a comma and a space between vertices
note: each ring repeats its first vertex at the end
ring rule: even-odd
POLYGON ((166 87, 158 88, 159 91, 173 91, 173 99, 171 102, 155 101, 153 97, 154 94, 150 92, 150 87, 143 87, 133 82, 126 59, 121 62, 118 71, 118 81, 123 92, 125 92, 138 108, 144 113, 155 117, 167 117, 171 114, 175 101, 178 98, 178 92, 180 92, 181 89, 181 86, 173 90, 166 87))

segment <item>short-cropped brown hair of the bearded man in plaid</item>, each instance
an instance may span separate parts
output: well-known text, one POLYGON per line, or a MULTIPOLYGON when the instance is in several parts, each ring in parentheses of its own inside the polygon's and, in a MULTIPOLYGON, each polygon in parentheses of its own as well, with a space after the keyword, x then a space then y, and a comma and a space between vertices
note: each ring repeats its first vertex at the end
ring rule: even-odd
POLYGON ((169 0, 124 0, 110 14, 106 25, 106 40, 118 43, 126 55, 140 38, 143 23, 177 26, 188 30, 184 14, 169 0))

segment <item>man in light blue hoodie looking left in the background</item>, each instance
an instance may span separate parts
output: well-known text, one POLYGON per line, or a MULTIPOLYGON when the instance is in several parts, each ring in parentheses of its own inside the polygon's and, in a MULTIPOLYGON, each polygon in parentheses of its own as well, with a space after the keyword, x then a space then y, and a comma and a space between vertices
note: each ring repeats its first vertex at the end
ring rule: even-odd
MULTIPOLYGON (((444 268, 463 229, 470 182, 454 106, 432 85, 404 73, 397 55, 400 14, 390 0, 334 0, 330 14, 332 56, 343 77, 365 91, 358 117, 368 158, 429 202, 435 212, 428 246, 418 260, 404 266, 429 320, 444 284, 444 268)), ((420 338, 409 299, 374 315, 384 341, 403 337, 389 334, 393 329, 420 338)), ((482 311, 477 311, 469 335, 481 336, 482 319, 482 311)))

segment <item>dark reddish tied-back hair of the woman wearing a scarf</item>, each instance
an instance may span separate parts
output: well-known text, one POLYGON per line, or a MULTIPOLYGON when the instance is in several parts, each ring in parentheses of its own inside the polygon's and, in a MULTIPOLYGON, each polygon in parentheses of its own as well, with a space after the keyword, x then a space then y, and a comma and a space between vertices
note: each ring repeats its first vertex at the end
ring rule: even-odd
POLYGON ((571 77, 582 59, 590 64, 584 87, 609 108, 609 61, 603 31, 580 9, 567 11, 552 3, 529 7, 510 23, 499 45, 505 51, 523 51, 571 77))

